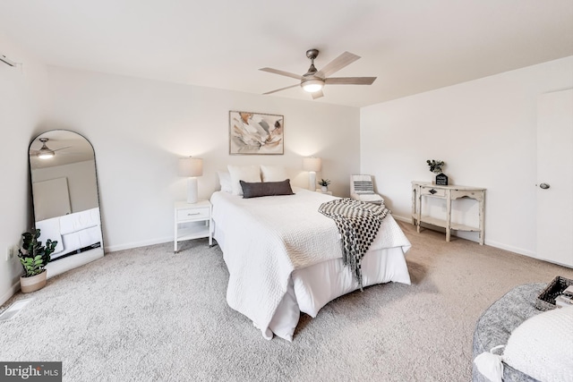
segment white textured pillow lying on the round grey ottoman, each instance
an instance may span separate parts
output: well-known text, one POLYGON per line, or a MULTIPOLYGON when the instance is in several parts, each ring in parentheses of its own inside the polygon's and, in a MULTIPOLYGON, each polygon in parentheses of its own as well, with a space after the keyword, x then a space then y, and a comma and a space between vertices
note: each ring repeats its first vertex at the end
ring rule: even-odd
POLYGON ((526 319, 511 333, 503 361, 538 380, 573 381, 573 307, 526 319))

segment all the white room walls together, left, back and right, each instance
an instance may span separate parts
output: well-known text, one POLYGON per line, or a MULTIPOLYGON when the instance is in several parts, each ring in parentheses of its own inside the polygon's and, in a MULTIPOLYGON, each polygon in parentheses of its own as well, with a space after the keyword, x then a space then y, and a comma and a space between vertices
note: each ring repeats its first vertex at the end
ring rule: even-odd
MULTIPOLYGON (((317 178, 346 196, 348 176, 373 174, 395 216, 409 220, 410 182, 429 180, 429 158, 446 161, 450 182, 483 186, 486 243, 535 252, 535 102, 573 86, 573 57, 364 107, 330 106, 39 64, 0 34, 0 51, 21 68, 0 65, 2 150, 0 303, 21 275, 5 261, 31 226, 27 150, 40 132, 68 129, 96 150, 107 250, 173 237, 173 202, 185 198, 177 158, 204 158, 202 198, 227 164, 286 166, 306 186, 302 157, 323 158, 317 178), (50 104, 47 105, 47 94, 50 104), (284 156, 229 156, 228 111, 285 115, 284 156), (49 118, 47 118, 49 115, 49 118), (17 160, 21 157, 21 160, 17 160)), ((469 238, 474 238, 469 233, 469 238)))

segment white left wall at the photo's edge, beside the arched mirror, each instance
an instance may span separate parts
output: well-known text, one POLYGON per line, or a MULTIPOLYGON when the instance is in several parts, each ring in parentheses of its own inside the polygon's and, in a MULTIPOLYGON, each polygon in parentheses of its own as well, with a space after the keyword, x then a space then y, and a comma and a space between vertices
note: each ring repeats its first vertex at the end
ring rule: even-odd
POLYGON ((28 146, 46 114, 46 68, 0 32, 0 52, 22 63, 0 63, 0 304, 20 288, 22 267, 17 253, 6 260, 6 249, 19 245, 32 226, 28 146))

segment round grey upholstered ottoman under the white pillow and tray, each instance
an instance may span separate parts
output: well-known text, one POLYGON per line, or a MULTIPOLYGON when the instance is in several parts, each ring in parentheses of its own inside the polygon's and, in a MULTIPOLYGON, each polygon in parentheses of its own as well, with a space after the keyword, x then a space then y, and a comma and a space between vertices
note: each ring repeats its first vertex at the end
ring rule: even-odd
MULTIPOLYGON (((474 331, 474 357, 489 352, 492 347, 507 344, 511 332, 527 318, 542 313, 535 308, 535 300, 546 284, 519 285, 492 303, 477 320, 474 331)), ((489 382, 472 364, 472 379, 475 382, 489 382)), ((503 365, 504 382, 535 382, 536 379, 503 365)))

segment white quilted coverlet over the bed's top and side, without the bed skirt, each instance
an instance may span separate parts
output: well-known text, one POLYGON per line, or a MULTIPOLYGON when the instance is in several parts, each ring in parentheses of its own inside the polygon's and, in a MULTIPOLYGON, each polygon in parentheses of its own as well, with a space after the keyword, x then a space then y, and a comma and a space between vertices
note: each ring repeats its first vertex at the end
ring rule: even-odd
MULTIPOLYGON (((225 232, 223 256, 229 271, 227 303, 264 333, 295 269, 342 258, 337 226, 318 212, 335 199, 296 189, 295 195, 243 199, 218 191, 211 196, 216 229, 225 232)), ((385 224, 370 250, 410 247, 396 222, 385 224)))

